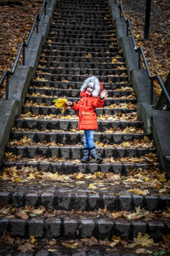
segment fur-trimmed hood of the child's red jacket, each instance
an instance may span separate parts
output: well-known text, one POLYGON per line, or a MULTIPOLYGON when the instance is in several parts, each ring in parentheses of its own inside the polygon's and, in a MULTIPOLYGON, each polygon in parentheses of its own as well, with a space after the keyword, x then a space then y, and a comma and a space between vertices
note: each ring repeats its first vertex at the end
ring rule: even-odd
POLYGON ((82 87, 80 89, 80 96, 84 96, 85 93, 86 93, 86 88, 88 87, 88 84, 90 82, 93 82, 94 83, 94 90, 92 92, 92 96, 94 97, 98 97, 99 96, 99 93, 101 90, 103 90, 103 84, 101 84, 99 82, 99 79, 95 76, 91 76, 89 77, 88 79, 85 79, 83 84, 82 84, 82 87))

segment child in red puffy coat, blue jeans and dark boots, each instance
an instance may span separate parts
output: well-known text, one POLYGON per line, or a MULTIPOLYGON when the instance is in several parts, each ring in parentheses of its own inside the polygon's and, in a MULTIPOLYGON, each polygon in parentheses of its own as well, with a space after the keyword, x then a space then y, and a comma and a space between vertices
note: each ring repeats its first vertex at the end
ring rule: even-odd
POLYGON ((85 79, 82 84, 80 96, 82 99, 75 102, 66 102, 66 106, 71 106, 71 108, 79 111, 79 121, 78 130, 84 130, 83 137, 83 158, 82 162, 88 163, 89 155, 91 155, 94 160, 101 163, 102 158, 96 152, 94 145, 94 130, 98 129, 98 122, 96 114, 94 113, 95 108, 103 107, 105 103, 105 96, 107 96, 107 91, 103 90, 103 84, 99 82, 99 79, 95 76, 85 79))

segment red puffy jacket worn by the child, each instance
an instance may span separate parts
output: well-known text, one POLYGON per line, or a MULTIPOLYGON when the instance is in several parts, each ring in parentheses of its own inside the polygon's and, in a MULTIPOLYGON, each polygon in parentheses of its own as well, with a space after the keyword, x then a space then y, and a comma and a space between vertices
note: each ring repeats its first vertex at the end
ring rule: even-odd
MULTIPOLYGON (((103 84, 100 85, 103 88, 103 84)), ((82 99, 77 103, 74 102, 73 107, 71 107, 74 110, 79 111, 79 121, 77 128, 78 130, 97 130, 98 122, 94 110, 96 108, 103 107, 105 98, 100 100, 99 97, 86 94, 86 90, 82 91, 80 96, 82 96, 82 99)))

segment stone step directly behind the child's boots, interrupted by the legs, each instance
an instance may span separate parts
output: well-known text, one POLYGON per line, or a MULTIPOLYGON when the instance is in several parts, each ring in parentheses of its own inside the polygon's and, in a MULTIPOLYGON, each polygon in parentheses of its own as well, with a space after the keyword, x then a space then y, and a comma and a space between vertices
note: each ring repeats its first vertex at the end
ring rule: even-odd
MULTIPOLYGON (((96 148, 98 154, 102 158, 125 158, 128 156, 131 157, 141 157, 144 154, 153 153, 156 154, 155 148, 122 148, 119 145, 116 148, 96 148)), ((6 152, 10 152, 15 155, 20 155, 21 157, 33 158, 36 154, 45 157, 57 156, 59 159, 65 160, 77 160, 82 159, 83 150, 82 145, 73 144, 71 146, 65 146, 63 144, 59 146, 42 146, 34 144, 31 146, 7 146, 6 152)))

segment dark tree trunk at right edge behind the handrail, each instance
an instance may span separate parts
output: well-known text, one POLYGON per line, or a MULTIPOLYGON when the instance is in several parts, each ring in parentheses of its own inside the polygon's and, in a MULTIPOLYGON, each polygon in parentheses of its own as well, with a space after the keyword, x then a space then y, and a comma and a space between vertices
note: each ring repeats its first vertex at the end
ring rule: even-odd
MULTIPOLYGON (((170 96, 170 72, 167 75, 165 88, 167 89, 167 93, 170 96)), ((161 110, 170 110, 170 104, 169 102, 167 102, 167 97, 165 96, 163 91, 161 91, 161 96, 159 98, 159 101, 157 102, 156 108, 161 110)))

